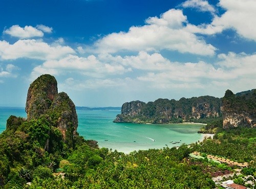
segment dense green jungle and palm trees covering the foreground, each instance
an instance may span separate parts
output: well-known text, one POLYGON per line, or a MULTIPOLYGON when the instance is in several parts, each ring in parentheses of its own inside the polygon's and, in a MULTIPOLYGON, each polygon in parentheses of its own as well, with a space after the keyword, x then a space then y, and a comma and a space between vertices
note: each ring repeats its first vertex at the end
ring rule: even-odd
POLYGON ((256 129, 218 129, 213 140, 205 139, 189 148, 181 145, 178 149, 150 149, 126 155, 92 147, 92 141, 80 136, 75 138, 75 147, 68 148, 60 131, 44 116, 31 121, 10 116, 6 131, 0 135, 0 187, 214 188, 209 173, 187 162, 189 153, 199 151, 250 162, 254 170, 249 171, 256 176, 255 136, 256 129), (52 148, 46 151, 44 144, 49 138, 52 148))

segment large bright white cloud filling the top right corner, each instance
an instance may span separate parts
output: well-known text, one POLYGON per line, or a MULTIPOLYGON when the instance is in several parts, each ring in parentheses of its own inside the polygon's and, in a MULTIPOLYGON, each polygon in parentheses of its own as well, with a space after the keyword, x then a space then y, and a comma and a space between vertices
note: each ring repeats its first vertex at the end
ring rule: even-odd
MULTIPOLYGON (((187 1, 184 4, 190 5, 192 2, 202 2, 199 0, 187 1)), ((183 4, 183 5, 184 5, 183 4)), ((196 6, 196 4, 193 4, 196 6)), ((220 0, 218 4, 225 12, 214 19, 209 25, 186 26, 186 31, 191 33, 201 33, 212 35, 221 33, 223 30, 235 30, 240 36, 256 41, 256 1, 254 0, 220 0)))

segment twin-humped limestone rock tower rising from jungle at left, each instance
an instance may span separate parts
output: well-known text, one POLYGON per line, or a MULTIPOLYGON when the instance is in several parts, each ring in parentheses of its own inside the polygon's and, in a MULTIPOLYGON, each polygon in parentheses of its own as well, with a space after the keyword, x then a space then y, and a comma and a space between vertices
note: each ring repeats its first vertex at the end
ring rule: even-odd
MULTIPOLYGON (((75 105, 65 92, 58 93, 57 81, 53 76, 42 75, 30 85, 26 112, 27 121, 47 117, 50 125, 59 129, 68 147, 73 147, 78 127, 75 105)), ((46 150, 50 149, 49 141, 51 138, 47 140, 46 150)))

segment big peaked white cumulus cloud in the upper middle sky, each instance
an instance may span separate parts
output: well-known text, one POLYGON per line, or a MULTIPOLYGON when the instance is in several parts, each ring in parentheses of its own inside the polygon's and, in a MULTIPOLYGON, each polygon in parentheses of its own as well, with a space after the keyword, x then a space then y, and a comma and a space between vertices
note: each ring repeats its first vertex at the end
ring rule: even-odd
POLYGON ((178 51, 196 55, 214 55, 216 48, 194 33, 185 30, 182 10, 171 9, 158 17, 146 19, 146 25, 131 27, 128 32, 112 33, 95 42, 96 53, 119 51, 178 51))

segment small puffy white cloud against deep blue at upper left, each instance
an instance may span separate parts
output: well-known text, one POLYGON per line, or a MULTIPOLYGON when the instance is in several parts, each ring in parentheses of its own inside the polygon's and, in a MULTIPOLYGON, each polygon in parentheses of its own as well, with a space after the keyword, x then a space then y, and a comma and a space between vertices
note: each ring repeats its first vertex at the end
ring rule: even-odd
POLYGON ((9 34, 12 37, 18 37, 20 39, 42 37, 44 33, 32 26, 25 26, 24 28, 14 25, 9 29, 4 30, 4 34, 9 34))

